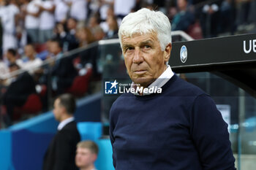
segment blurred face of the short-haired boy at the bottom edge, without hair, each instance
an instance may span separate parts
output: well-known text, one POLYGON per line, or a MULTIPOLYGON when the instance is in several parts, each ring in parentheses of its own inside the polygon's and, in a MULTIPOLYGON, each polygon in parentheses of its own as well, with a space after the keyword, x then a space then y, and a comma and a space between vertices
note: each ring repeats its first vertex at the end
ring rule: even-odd
POLYGON ((75 155, 75 164, 78 168, 86 168, 96 161, 97 155, 88 148, 78 147, 75 155))

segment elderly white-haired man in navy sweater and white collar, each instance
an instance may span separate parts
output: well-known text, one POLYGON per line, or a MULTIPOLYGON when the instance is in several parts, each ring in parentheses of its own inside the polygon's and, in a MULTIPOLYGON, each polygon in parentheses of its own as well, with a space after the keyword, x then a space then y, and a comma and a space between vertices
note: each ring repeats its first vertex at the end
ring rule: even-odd
POLYGON ((121 23, 118 36, 131 88, 157 87, 162 93, 124 93, 113 103, 113 165, 117 170, 233 170, 227 124, 214 101, 167 65, 170 30, 167 17, 149 9, 130 13, 121 23))

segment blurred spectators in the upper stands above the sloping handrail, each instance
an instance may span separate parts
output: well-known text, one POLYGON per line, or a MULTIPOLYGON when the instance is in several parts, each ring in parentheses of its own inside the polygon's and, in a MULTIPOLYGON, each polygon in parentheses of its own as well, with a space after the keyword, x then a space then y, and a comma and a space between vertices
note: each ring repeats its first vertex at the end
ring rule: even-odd
POLYGON ((255 0, 1 0, 2 59, 10 49, 26 57, 26 45, 53 38, 64 51, 116 38, 121 19, 142 7, 164 12, 173 30, 195 39, 255 31, 255 0))

